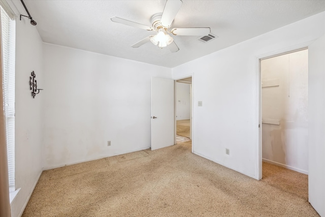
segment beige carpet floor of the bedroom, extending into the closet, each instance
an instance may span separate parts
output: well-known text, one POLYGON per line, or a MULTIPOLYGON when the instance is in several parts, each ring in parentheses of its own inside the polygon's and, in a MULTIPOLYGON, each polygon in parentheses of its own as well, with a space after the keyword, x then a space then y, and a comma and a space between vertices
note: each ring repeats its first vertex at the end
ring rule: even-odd
POLYGON ((23 216, 318 216, 307 175, 263 164, 257 181, 191 142, 44 171, 23 216))

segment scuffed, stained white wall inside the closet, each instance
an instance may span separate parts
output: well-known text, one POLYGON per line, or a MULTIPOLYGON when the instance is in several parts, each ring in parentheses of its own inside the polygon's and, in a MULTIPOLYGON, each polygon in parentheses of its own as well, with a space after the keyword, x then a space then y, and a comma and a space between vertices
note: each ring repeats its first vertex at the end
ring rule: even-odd
POLYGON ((308 50, 261 61, 263 160, 308 174, 308 50))

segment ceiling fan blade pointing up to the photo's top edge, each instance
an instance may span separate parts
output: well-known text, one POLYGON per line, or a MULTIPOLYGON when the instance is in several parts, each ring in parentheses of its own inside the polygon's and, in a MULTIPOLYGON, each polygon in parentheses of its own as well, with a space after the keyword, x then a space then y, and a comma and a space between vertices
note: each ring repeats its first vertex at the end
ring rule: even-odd
POLYGON ((160 23, 165 27, 169 27, 179 9, 182 7, 183 2, 181 0, 167 0, 163 15, 161 15, 160 23))

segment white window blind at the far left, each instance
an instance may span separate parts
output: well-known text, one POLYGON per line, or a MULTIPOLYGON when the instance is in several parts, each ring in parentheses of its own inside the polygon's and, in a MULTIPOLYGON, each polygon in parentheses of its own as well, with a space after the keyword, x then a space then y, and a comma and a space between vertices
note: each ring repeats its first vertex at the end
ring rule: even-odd
POLYGON ((1 7, 3 89, 6 116, 9 188, 15 191, 15 21, 1 7))

